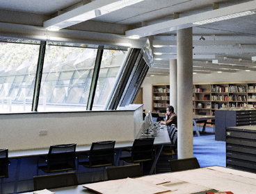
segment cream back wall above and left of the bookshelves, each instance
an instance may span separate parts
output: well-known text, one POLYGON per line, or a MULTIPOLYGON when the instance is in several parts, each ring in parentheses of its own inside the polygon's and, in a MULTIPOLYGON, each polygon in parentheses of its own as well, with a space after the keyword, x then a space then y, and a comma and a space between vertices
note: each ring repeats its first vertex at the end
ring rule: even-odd
MULTIPOLYGON (((256 71, 239 71, 237 73, 197 73, 193 74, 193 83, 196 82, 256 82, 256 71)), ((152 85, 170 84, 169 76, 147 76, 143 82, 144 109, 152 110, 152 85)), ((172 92, 172 91, 170 91, 172 92)))

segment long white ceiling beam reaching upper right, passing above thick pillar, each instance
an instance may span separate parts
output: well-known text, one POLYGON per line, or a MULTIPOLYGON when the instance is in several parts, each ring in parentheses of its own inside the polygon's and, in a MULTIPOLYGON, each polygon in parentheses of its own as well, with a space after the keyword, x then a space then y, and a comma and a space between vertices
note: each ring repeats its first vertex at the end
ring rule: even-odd
POLYGON ((238 12, 245 12, 256 8, 256 1, 248 1, 246 3, 239 3, 234 6, 228 6, 225 8, 219 8, 207 12, 201 12, 195 15, 189 15, 186 17, 180 17, 169 21, 159 22, 149 26, 143 26, 141 28, 135 28, 133 30, 127 30, 126 36, 138 35, 139 37, 146 37, 149 35, 157 35, 170 31, 175 31, 183 28, 189 28, 192 26, 198 26, 195 22, 204 21, 205 19, 213 19, 216 17, 223 17, 226 15, 235 14, 238 12))

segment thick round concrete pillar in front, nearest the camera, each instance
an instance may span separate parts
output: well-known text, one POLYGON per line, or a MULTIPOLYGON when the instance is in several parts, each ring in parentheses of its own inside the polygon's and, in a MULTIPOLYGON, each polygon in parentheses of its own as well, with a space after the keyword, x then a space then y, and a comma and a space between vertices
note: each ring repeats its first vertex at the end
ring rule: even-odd
POLYGON ((179 159, 193 157, 192 56, 192 28, 177 30, 177 150, 179 159))

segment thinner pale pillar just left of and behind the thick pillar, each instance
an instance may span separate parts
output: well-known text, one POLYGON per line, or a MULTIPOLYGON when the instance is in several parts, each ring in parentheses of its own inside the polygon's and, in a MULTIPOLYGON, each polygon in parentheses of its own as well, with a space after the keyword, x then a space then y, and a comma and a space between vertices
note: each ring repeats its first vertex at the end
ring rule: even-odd
POLYGON ((177 60, 170 60, 170 105, 177 114, 177 60))

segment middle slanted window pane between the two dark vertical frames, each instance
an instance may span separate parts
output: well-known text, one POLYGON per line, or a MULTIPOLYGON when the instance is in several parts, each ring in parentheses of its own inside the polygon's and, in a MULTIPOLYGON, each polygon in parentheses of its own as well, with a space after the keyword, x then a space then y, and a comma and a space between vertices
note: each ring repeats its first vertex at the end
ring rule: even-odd
POLYGON ((97 49, 48 45, 38 111, 86 110, 97 49))

